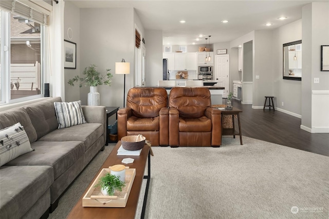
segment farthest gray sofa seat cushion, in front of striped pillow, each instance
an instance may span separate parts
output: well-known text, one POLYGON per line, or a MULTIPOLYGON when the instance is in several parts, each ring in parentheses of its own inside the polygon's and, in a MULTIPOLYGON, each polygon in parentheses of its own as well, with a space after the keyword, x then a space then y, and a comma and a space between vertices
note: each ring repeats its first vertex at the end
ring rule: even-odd
POLYGON ((103 132, 103 124, 85 123, 65 129, 56 129, 40 138, 39 141, 80 141, 84 143, 84 150, 86 151, 100 136, 102 136, 103 132))

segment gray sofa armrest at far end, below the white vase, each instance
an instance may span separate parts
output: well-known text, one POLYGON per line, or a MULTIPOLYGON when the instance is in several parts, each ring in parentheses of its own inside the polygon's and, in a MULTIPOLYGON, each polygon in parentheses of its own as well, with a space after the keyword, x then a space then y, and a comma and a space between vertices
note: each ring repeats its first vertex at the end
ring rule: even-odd
POLYGON ((101 123, 104 127, 104 144, 106 142, 106 109, 104 106, 81 106, 87 123, 101 123))

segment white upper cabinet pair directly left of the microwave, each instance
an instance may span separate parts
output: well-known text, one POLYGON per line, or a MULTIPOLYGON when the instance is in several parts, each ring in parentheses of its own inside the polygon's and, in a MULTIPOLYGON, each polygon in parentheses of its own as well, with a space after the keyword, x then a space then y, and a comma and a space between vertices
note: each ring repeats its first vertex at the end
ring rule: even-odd
POLYGON ((196 70, 196 54, 175 53, 175 70, 196 70))

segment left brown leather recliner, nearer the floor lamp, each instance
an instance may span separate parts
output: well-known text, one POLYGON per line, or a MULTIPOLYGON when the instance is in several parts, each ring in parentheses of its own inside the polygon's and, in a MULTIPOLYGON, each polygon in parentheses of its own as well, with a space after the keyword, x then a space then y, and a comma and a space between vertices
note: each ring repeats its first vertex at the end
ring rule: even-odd
POLYGON ((142 134, 152 146, 169 145, 168 94, 165 88, 132 88, 118 111, 118 140, 142 134))

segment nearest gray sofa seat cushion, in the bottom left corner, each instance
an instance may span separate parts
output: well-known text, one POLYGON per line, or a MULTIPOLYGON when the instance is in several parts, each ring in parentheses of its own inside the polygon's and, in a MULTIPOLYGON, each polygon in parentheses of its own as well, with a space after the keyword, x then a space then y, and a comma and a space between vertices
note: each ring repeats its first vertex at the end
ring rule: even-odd
POLYGON ((22 218, 53 183, 49 166, 2 166, 0 175, 1 218, 22 218))

